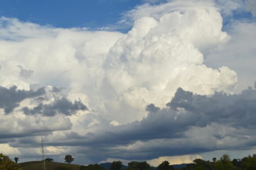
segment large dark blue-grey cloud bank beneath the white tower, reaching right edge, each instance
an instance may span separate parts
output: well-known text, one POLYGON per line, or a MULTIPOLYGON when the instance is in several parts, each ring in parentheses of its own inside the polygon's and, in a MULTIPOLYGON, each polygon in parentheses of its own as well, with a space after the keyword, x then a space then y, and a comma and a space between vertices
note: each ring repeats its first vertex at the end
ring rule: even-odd
POLYGON ((256 128, 256 90, 241 94, 215 92, 212 96, 193 94, 177 89, 166 108, 147 106, 149 114, 142 121, 115 126, 102 133, 90 134, 93 143, 130 143, 136 140, 184 137, 191 127, 206 127, 213 123, 236 128, 256 128))

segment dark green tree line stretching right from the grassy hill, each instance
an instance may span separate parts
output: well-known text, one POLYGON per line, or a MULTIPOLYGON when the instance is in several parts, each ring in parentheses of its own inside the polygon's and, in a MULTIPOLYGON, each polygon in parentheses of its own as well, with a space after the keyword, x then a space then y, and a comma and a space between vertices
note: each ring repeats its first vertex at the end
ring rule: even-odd
MULTIPOLYGON (((121 170, 122 162, 114 161, 111 163, 109 170, 121 170)), ((106 170, 98 164, 90 164, 81 166, 80 170, 106 170)), ((127 169, 122 170, 155 170, 146 161, 132 161, 128 163, 127 169)), ((168 161, 160 163, 156 170, 256 170, 256 154, 248 155, 242 159, 230 159, 227 154, 222 155, 218 160, 214 157, 212 162, 203 159, 194 159, 192 163, 188 163, 186 167, 174 168, 168 161)))

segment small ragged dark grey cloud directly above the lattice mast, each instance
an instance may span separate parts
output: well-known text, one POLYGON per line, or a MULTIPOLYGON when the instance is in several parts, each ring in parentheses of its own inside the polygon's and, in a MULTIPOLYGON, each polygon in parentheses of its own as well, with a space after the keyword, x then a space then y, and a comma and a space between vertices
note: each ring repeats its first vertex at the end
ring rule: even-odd
POLYGON ((87 110, 87 107, 79 100, 75 100, 74 103, 67 100, 65 97, 61 99, 56 99, 53 103, 50 104, 43 104, 40 103, 38 106, 34 107, 33 109, 29 109, 28 107, 23 107, 23 112, 26 115, 34 115, 34 114, 41 114, 45 116, 54 116, 58 113, 64 115, 72 115, 75 111, 78 110, 87 110))

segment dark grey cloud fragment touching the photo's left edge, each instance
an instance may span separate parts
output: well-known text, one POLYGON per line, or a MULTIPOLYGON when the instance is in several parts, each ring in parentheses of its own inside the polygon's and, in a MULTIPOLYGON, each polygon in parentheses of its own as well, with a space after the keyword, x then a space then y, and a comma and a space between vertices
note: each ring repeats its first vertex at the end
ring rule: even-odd
POLYGON ((0 108, 4 109, 6 114, 11 113, 19 103, 27 98, 33 98, 45 94, 45 89, 40 88, 36 91, 33 90, 17 90, 16 86, 10 89, 0 86, 0 108))

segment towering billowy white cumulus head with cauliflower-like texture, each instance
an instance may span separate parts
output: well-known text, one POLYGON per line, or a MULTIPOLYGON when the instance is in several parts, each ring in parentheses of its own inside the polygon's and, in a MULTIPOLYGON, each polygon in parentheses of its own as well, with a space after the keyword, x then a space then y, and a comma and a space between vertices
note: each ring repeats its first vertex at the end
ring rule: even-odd
POLYGON ((214 7, 136 20, 106 59, 106 79, 116 100, 142 110, 147 103, 163 106, 178 87, 199 94, 232 92, 237 74, 227 67, 206 67, 199 50, 228 41, 221 29, 222 17, 214 7))

